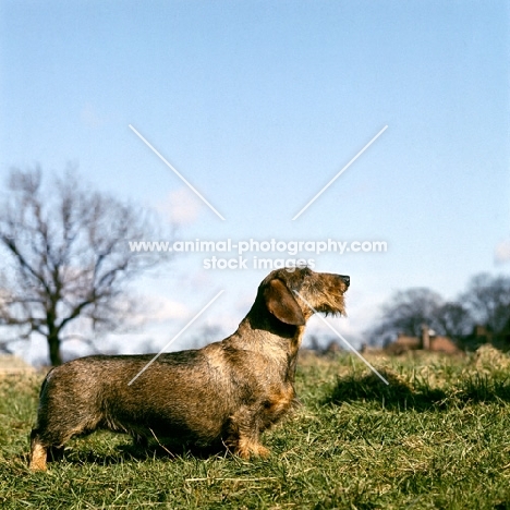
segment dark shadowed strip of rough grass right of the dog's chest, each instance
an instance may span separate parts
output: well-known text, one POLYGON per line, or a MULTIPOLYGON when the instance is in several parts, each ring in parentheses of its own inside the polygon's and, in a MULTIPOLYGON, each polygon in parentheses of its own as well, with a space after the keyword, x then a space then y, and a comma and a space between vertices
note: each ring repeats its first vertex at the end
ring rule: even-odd
POLYGON ((405 411, 446 410, 476 402, 510 402, 510 377, 491 378, 475 374, 456 379, 444 388, 433 388, 426 380, 404 381, 398 375, 382 372, 389 385, 375 374, 338 378, 335 388, 323 403, 378 402, 382 409, 405 411))

